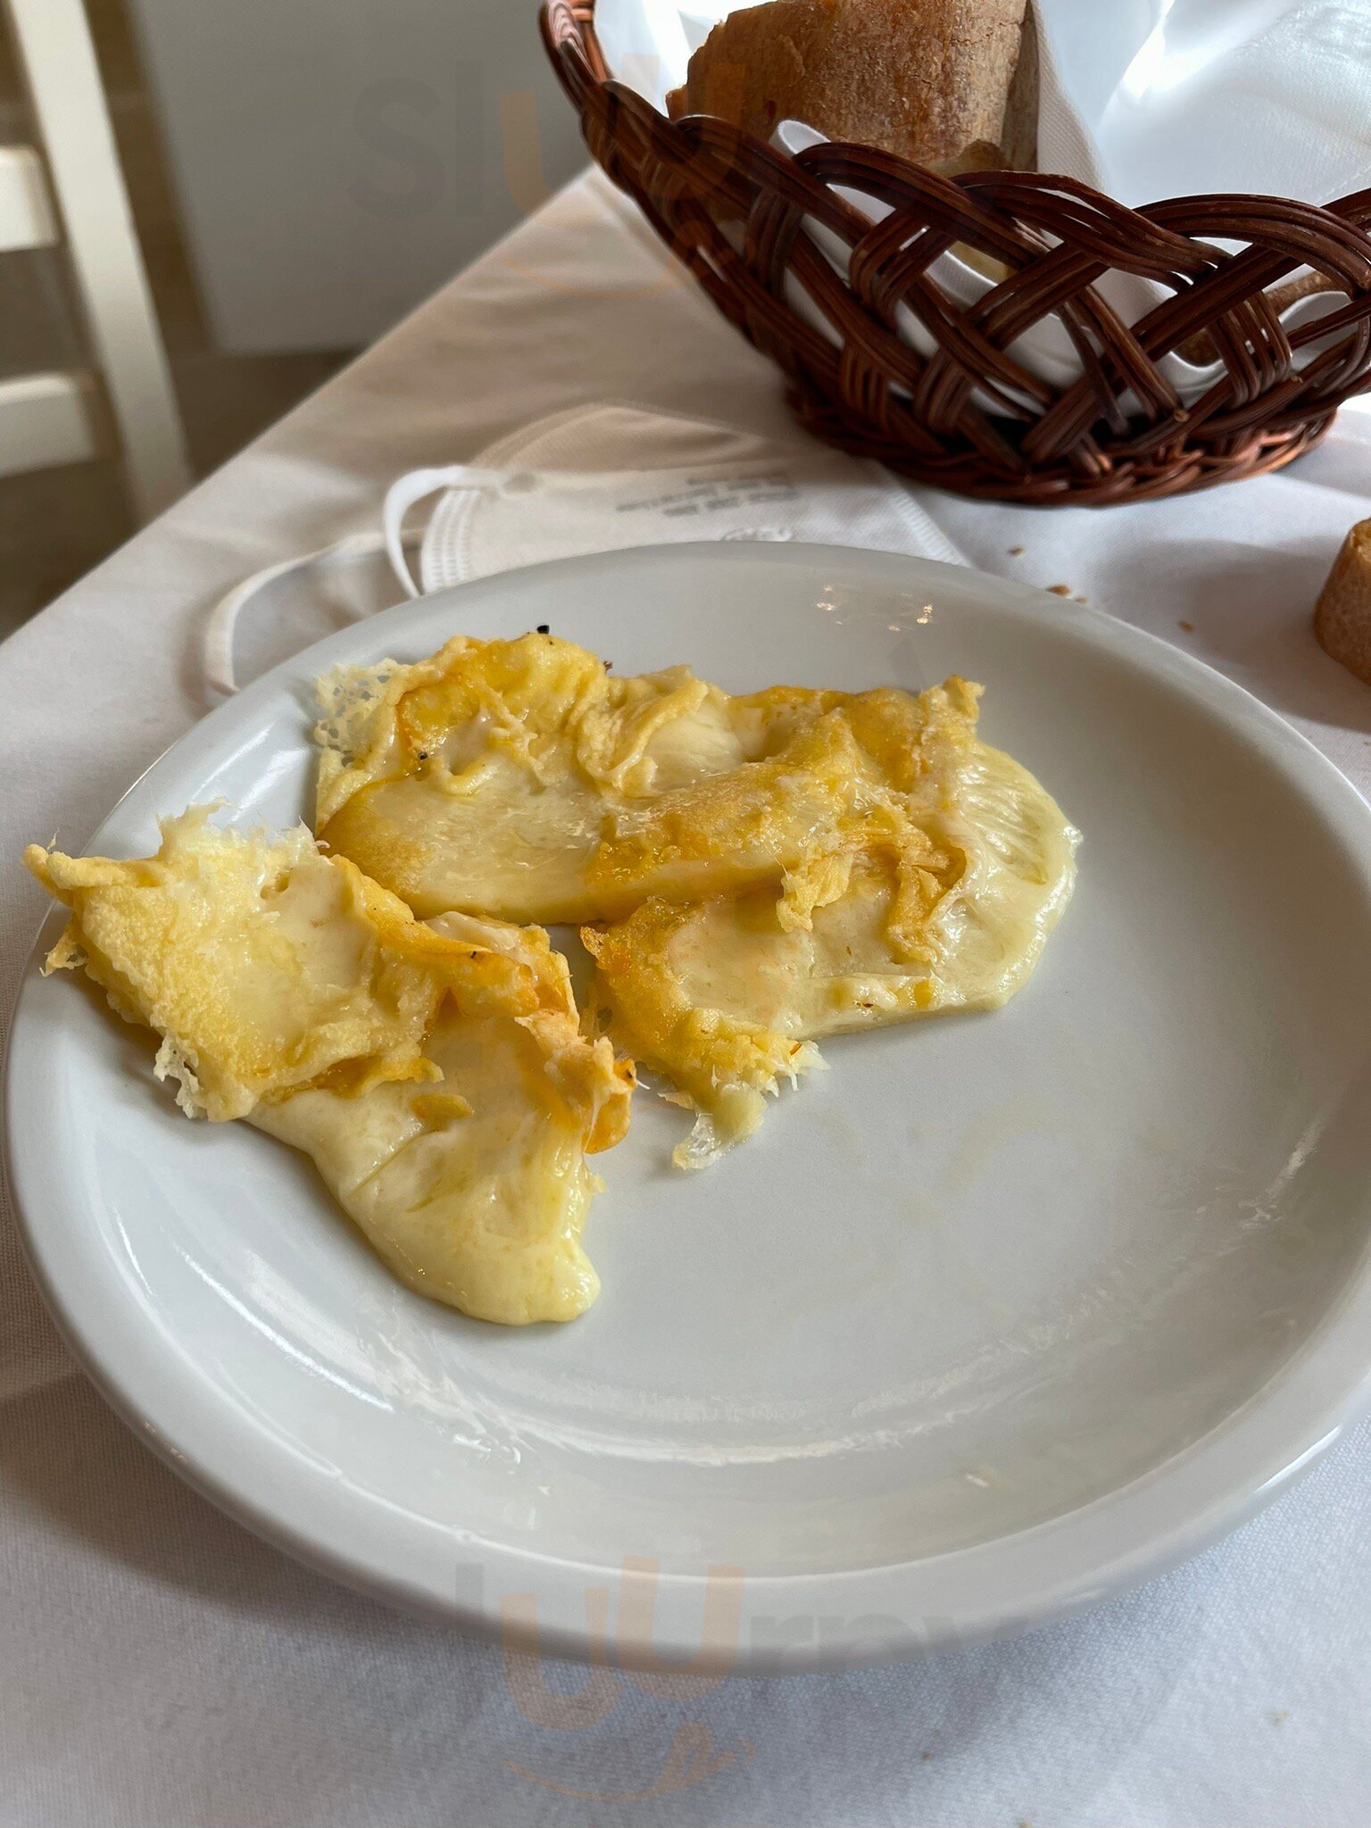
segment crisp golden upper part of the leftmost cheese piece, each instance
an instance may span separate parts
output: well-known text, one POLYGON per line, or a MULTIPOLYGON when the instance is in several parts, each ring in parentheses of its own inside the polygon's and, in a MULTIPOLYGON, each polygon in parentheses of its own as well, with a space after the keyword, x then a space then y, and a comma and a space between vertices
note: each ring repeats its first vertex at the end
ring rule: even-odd
POLYGON ((214 826, 201 806, 161 834, 155 857, 33 845, 24 861, 71 909, 48 969, 84 965, 126 1020, 163 1036, 190 1115, 245 1117, 325 1077, 344 1091, 431 1079, 424 1038, 448 994, 526 1024, 589 1086, 567 962, 545 932, 426 927, 303 826, 267 839, 214 826))

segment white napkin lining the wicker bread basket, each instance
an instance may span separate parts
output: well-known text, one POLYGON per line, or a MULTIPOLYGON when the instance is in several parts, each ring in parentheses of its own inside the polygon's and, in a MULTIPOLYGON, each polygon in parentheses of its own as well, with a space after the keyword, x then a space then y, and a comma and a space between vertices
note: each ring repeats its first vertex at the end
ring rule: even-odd
MULTIPOLYGON (((742 0, 757 5, 759 0, 742 0)), ((1060 172, 1144 205, 1203 190, 1272 192, 1327 203, 1371 185, 1371 0, 1033 0, 1038 26, 1038 168, 1060 172)), ((737 0, 600 0, 596 24, 611 68, 654 106, 686 75, 691 51, 737 0)), ((801 152, 823 135, 801 121, 779 122, 773 144, 801 152)), ((885 219, 890 210, 856 190, 854 208, 885 219)), ((812 218, 810 234, 837 272, 845 243, 812 218)), ((932 276, 960 305, 993 282, 943 254, 932 276)), ((837 340, 823 313, 792 278, 792 305, 837 340)), ((1135 324, 1170 292, 1153 280, 1110 272, 1099 282, 1124 324, 1135 324)), ((1342 292, 1302 298, 1281 316, 1287 331, 1336 311, 1342 292)), ((899 309, 899 333, 929 355, 934 340, 899 309)), ((1296 356, 1314 360, 1314 340, 1296 356)), ((1011 345, 1029 373, 1053 386, 1080 375, 1080 356, 1057 318, 1011 345)), ((1221 364, 1172 353, 1159 364, 1183 400, 1199 399, 1221 364)), ((994 408, 985 395, 982 406, 994 408)), ((1124 397, 1124 408, 1133 402, 1124 397)))

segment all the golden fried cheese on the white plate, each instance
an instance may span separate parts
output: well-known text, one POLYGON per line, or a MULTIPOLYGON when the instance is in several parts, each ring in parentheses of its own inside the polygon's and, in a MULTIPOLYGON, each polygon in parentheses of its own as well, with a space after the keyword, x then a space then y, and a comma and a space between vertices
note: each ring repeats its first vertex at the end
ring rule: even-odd
POLYGON ((1069 899, 1079 834, 978 735, 980 686, 620 678, 537 631, 320 682, 316 830, 190 808, 152 857, 26 863, 157 1079, 311 1155, 411 1289, 570 1320, 587 1155, 631 1058, 695 1111, 682 1168, 748 1137, 815 1042, 994 1009, 1069 899), (539 921, 594 962, 583 1026, 539 921))

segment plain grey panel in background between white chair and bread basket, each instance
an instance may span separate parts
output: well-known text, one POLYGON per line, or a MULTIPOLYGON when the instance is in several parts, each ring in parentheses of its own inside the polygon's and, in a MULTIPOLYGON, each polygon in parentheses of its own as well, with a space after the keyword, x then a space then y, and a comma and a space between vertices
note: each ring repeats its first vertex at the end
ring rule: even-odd
POLYGON ((537 0, 130 0, 225 351, 371 342, 585 163, 537 0))

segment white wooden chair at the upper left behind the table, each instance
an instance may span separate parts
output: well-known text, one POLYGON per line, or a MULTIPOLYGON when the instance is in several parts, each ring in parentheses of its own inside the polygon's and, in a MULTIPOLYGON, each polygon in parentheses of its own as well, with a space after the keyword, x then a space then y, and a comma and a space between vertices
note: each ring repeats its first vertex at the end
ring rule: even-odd
POLYGON ((4 13, 42 150, 0 146, 0 258, 66 245, 99 380, 0 377, 0 477, 101 455, 104 395, 146 521, 185 494, 190 466, 90 26, 82 0, 4 0, 4 13))

